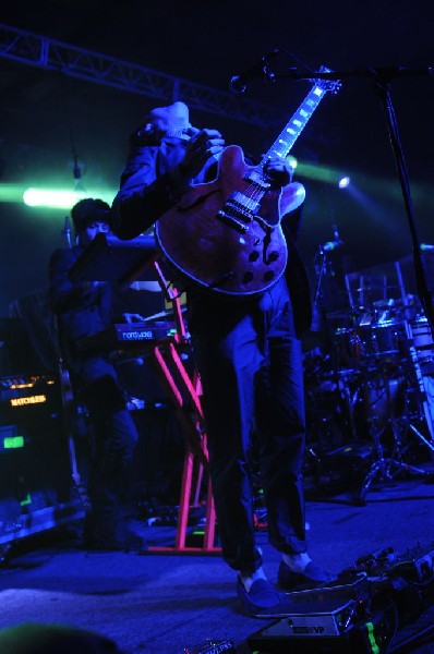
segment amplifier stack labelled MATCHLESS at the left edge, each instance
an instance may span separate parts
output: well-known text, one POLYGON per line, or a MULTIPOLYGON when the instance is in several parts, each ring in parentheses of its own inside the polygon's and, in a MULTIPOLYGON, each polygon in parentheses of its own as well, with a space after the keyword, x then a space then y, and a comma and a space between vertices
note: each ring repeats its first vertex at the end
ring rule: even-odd
POLYGON ((0 377, 0 546, 84 517, 74 493, 58 377, 0 377))

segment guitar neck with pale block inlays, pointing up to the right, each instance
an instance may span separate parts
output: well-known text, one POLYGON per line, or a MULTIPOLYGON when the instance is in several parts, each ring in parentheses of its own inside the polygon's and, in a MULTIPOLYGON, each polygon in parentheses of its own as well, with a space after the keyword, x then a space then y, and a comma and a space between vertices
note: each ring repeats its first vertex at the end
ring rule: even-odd
MULTIPOLYGON (((328 69, 322 69, 322 72, 328 72, 328 69)), ((269 150, 264 155, 261 165, 264 165, 270 157, 285 158, 290 153, 296 141, 304 130, 308 121, 312 117, 316 107, 327 93, 327 88, 321 83, 315 83, 308 94, 305 99, 302 101, 296 113, 292 116, 288 124, 282 129, 269 150)))

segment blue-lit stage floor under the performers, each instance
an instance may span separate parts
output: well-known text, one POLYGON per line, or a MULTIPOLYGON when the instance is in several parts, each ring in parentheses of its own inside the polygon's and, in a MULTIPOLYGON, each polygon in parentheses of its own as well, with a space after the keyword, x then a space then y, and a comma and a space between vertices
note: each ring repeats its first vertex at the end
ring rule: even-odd
MULTIPOLYGON (((365 506, 354 506, 345 493, 327 499, 311 499, 308 493, 311 555, 338 573, 384 548, 399 556, 420 545, 430 548, 434 484, 426 482, 399 479, 378 484, 370 488, 365 506)), ((133 525, 148 546, 173 544, 173 526, 149 526, 140 516, 133 525)), ((266 530, 258 532, 258 543, 274 581, 279 555, 267 544, 266 530)), ((23 545, 0 567, 1 628, 26 621, 72 625, 112 638, 125 654, 195 654, 206 651, 207 639, 229 640, 233 651, 244 654, 251 651, 248 638, 272 622, 241 613, 236 574, 216 555, 95 554, 57 531, 23 545)), ((398 630, 390 651, 433 652, 434 640, 399 647, 433 622, 430 605, 398 630)), ((297 654, 289 645, 288 652, 297 654)))

